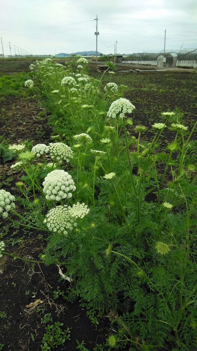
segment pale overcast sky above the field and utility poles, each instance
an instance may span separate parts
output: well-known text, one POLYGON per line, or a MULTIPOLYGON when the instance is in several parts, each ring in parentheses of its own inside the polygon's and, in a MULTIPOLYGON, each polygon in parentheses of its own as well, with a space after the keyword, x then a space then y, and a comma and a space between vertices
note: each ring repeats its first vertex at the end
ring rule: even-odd
MULTIPOLYGON (((0 0, 4 54, 197 48, 197 0, 0 0), (15 45, 15 49, 14 49, 15 45), (22 50, 21 50, 22 49, 22 50)), ((0 53, 2 53, 0 42, 0 53)))

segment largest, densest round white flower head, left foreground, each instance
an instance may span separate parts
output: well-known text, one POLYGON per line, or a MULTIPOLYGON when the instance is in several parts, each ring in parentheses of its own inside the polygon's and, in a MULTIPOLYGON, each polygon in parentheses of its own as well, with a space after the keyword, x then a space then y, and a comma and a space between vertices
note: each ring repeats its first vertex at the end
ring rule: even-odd
POLYGON ((48 173, 42 185, 46 199, 53 201, 70 199, 72 191, 76 190, 72 177, 63 170, 54 170, 48 173))

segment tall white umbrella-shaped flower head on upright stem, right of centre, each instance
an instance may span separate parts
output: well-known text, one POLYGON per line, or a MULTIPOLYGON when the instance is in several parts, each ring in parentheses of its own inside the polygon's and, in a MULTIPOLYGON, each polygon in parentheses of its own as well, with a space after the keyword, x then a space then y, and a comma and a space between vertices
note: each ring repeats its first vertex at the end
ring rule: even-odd
POLYGON ((135 110, 135 106, 127 99, 120 98, 112 102, 107 116, 110 118, 124 118, 125 113, 132 113, 135 110))

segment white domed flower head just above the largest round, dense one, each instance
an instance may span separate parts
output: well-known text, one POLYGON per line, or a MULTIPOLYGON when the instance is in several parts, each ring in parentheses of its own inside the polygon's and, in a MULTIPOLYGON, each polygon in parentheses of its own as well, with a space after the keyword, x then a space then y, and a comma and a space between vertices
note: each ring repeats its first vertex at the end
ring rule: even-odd
POLYGON ((50 143, 48 152, 52 158, 56 158, 59 161, 66 160, 69 162, 73 158, 73 151, 68 145, 63 143, 50 143))

